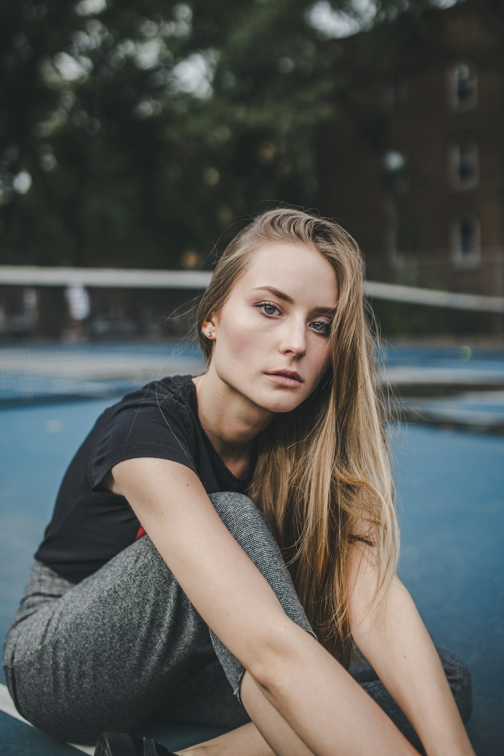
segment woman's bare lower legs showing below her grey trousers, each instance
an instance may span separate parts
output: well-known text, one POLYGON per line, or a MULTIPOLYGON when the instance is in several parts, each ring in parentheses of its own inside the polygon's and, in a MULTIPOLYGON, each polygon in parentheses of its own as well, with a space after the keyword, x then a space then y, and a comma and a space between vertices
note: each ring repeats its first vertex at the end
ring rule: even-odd
POLYGON ((262 734, 253 722, 249 722, 218 738, 176 752, 181 756, 314 756, 264 698, 249 672, 243 675, 240 696, 251 717, 260 721, 262 734))

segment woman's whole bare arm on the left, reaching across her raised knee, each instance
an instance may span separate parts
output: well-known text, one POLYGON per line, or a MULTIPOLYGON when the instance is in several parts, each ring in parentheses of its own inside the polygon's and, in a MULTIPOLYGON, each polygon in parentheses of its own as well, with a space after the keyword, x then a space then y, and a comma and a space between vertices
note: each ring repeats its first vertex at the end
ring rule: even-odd
MULTIPOLYGON (((113 468, 112 490, 126 497, 193 606, 312 753, 415 754, 342 666, 287 617, 190 469, 126 460, 113 468)), ((252 721, 275 753, 292 756, 265 723, 255 689, 242 690, 252 721)))

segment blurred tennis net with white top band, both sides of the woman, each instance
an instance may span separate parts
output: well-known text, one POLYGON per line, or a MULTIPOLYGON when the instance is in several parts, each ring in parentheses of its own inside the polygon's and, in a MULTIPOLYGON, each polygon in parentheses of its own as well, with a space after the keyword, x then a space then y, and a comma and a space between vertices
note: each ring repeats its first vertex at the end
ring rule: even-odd
MULTIPOLYGON (((210 275, 0 266, 0 402, 119 395, 162 375, 195 373, 203 361, 189 338, 190 309, 210 275)), ((442 359, 469 376, 468 354, 477 352, 468 336, 502 328, 502 297, 382 282, 367 282, 365 293, 387 338, 450 334, 453 343, 413 356, 411 349, 393 357, 388 350, 384 382, 397 383, 401 360, 413 365, 403 382, 415 383, 412 370, 442 359)))

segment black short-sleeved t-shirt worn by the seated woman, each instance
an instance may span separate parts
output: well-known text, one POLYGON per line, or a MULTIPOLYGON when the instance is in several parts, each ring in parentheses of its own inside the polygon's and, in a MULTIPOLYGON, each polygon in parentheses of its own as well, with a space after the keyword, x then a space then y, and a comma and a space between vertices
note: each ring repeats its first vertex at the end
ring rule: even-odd
POLYGON ((35 555, 39 562, 77 583, 135 541, 135 513, 102 485, 114 465, 134 457, 180 462, 208 494, 246 491, 255 467, 253 449, 246 478, 227 469, 199 423, 191 376, 150 383, 105 410, 73 457, 35 555))

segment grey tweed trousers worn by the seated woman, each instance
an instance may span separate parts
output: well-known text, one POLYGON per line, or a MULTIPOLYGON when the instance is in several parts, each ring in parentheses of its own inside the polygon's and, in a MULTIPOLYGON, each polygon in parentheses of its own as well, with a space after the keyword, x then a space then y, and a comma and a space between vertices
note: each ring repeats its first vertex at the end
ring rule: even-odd
MULTIPOLYGON (((314 635, 264 515, 243 494, 211 494, 215 510, 277 594, 314 635)), ((438 650, 466 721, 471 679, 438 650)), ((35 562, 5 636, 3 665, 20 714, 56 739, 94 743, 147 721, 233 729, 249 722, 240 702, 244 669, 199 616, 144 536, 78 584, 35 562)), ((422 751, 416 733, 373 669, 350 673, 422 751)))

